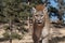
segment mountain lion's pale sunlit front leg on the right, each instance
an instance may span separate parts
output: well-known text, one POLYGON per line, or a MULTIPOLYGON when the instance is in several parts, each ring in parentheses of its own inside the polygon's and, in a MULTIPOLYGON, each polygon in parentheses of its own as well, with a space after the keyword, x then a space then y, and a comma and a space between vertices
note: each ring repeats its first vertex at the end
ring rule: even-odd
POLYGON ((49 43, 50 31, 48 28, 43 28, 41 32, 42 43, 49 43))

